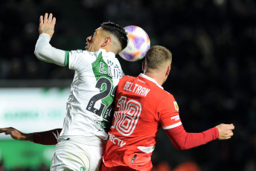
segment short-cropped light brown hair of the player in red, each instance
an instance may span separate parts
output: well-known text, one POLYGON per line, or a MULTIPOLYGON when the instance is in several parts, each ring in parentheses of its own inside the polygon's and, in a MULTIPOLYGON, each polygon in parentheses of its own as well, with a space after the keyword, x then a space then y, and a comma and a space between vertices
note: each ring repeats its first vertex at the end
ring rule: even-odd
POLYGON ((161 67, 164 62, 172 62, 172 54, 167 48, 155 45, 147 51, 145 61, 148 68, 156 69, 161 67))

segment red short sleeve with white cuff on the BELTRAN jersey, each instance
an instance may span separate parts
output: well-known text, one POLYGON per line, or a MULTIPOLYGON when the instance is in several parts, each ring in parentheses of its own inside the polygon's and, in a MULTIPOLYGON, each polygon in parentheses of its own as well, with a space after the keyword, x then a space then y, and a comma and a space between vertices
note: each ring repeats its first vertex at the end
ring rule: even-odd
POLYGON ((158 112, 163 129, 172 129, 182 124, 179 118, 179 106, 173 95, 169 94, 161 100, 158 112))

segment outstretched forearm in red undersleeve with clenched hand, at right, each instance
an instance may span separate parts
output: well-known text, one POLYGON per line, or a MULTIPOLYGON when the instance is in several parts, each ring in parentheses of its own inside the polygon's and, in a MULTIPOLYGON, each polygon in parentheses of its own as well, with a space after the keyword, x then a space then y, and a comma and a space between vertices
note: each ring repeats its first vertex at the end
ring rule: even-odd
POLYGON ((180 125, 173 129, 164 129, 164 131, 176 149, 184 150, 214 141, 217 138, 219 140, 227 140, 233 135, 233 129, 233 124, 220 124, 205 132, 190 133, 186 132, 184 127, 180 125))

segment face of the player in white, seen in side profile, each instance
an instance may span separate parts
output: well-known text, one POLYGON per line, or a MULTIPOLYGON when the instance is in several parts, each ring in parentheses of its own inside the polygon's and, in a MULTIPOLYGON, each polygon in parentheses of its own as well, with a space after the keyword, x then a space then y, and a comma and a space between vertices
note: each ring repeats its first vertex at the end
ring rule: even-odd
POLYGON ((101 48, 101 45, 103 43, 103 36, 101 31, 103 28, 97 28, 95 30, 95 33, 92 36, 89 36, 86 38, 86 50, 95 52, 99 48, 101 48))

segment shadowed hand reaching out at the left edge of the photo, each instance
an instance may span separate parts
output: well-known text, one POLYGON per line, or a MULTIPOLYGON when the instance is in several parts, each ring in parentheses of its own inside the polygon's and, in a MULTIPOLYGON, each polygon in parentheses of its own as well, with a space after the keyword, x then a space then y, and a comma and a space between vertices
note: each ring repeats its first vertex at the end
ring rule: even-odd
POLYGON ((0 129, 0 133, 4 133, 4 132, 5 132, 5 135, 10 135, 15 140, 33 142, 33 134, 32 133, 25 134, 25 133, 20 132, 19 130, 14 129, 12 127, 0 129))

